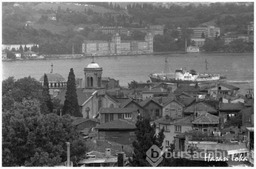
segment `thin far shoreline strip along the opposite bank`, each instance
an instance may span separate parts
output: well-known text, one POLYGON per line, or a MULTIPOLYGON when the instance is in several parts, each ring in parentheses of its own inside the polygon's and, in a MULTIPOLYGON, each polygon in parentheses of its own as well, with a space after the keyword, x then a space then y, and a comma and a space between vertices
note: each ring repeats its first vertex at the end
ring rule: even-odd
MULTIPOLYGON (((218 54, 218 53, 254 53, 254 51, 249 52, 199 52, 202 54, 218 54)), ((134 56, 134 55, 164 55, 164 54, 196 54, 196 53, 187 53, 184 51, 169 51, 169 52, 153 52, 151 54, 124 54, 124 55, 95 55, 94 57, 106 57, 106 56, 134 56)), ((33 59, 17 59, 17 60, 2 60, 2 62, 11 62, 11 61, 25 61, 25 60, 57 60, 57 59, 78 59, 78 58, 90 58, 91 55, 79 54, 80 56, 68 56, 68 57, 52 57, 52 58, 33 58, 33 59), (81 56, 83 55, 83 56, 81 56)))

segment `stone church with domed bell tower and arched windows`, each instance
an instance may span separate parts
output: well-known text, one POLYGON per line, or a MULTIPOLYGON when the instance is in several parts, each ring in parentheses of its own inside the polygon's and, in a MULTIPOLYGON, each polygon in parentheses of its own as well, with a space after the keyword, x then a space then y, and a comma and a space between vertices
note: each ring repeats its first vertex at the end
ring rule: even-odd
MULTIPOLYGON (((84 68, 84 87, 76 88, 80 112, 84 118, 95 118, 101 107, 118 107, 118 100, 102 87, 103 69, 93 61, 84 68)), ((60 104, 64 104, 66 89, 61 91, 55 98, 60 99, 60 104)))

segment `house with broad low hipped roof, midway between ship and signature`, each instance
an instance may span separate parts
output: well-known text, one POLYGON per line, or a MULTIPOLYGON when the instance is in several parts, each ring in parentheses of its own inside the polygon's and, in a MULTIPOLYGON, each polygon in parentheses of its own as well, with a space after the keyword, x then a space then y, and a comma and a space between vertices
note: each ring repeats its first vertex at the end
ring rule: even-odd
POLYGON ((204 102, 196 102, 188 106, 184 110, 184 117, 190 116, 190 115, 195 115, 196 117, 198 117, 206 113, 218 115, 218 110, 204 102))

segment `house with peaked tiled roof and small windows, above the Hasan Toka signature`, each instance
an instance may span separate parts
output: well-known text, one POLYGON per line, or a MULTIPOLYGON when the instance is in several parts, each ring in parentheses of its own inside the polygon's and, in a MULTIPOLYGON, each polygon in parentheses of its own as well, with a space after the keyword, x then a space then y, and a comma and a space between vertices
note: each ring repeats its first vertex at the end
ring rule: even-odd
MULTIPOLYGON (((193 122, 193 129, 203 132, 203 133, 210 133, 210 131, 218 132, 219 131, 219 124, 220 124, 220 117, 216 115, 212 115, 210 113, 204 113, 196 117, 193 122), (212 128, 212 129, 211 129, 212 128)), ((210 133, 212 134, 212 133, 210 133)))

